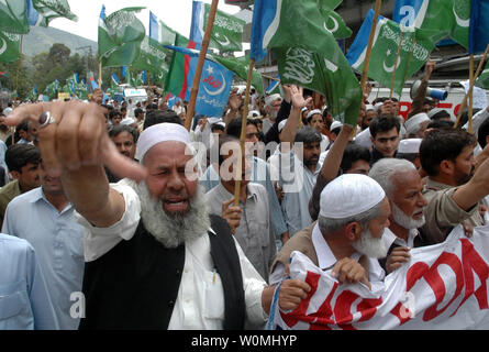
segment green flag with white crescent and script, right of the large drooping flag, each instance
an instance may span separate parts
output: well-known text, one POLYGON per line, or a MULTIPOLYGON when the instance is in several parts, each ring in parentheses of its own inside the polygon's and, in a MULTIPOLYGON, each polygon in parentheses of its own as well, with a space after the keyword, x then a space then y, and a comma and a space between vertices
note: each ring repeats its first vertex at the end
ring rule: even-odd
MULTIPOLYGON (((367 29, 369 30, 368 25, 367 29)), ((368 77, 377 80, 384 87, 391 87, 392 75, 396 70, 393 91, 398 95, 402 92, 404 79, 410 78, 424 65, 435 47, 435 42, 432 42, 430 35, 426 35, 423 30, 403 28, 401 51, 396 63, 400 40, 401 25, 389 19, 380 19, 377 23, 368 66, 368 77)), ((357 45, 363 44, 365 44, 365 48, 362 51, 362 55, 352 62, 352 67, 358 72, 363 72, 364 68, 367 43, 356 40, 349 48, 351 52, 354 52, 357 45)))

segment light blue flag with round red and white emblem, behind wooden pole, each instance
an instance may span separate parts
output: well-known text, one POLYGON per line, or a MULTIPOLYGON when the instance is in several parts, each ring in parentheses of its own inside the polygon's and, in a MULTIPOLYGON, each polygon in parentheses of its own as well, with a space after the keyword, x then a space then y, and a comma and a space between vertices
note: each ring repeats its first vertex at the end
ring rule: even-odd
MULTIPOLYGON (((200 47, 197 45, 196 50, 190 50, 173 45, 164 46, 190 56, 189 72, 187 75, 187 92, 185 96, 185 99, 188 101, 190 100, 190 89, 192 87, 193 76, 196 75, 200 47)), ((220 64, 205 59, 200 78, 196 111, 211 118, 220 118, 227 105, 233 78, 233 72, 224 68, 220 64)))

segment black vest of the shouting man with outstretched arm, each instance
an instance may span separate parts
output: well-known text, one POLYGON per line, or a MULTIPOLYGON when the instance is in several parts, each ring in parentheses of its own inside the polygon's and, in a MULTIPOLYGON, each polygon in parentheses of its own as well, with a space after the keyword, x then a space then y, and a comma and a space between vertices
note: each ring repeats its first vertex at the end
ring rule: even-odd
MULTIPOLYGON (((224 290, 224 329, 244 329, 240 258, 227 222, 210 216, 211 256, 224 290)), ((140 221, 134 237, 85 264, 85 329, 167 329, 178 296, 185 245, 167 249, 140 221)), ((218 297, 216 297, 218 299, 218 297)), ((222 299, 222 298, 221 298, 222 299)))

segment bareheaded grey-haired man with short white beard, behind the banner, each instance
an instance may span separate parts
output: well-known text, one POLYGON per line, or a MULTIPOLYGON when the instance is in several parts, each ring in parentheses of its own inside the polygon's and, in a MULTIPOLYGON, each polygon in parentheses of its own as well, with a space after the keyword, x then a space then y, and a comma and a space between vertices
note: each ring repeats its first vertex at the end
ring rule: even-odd
POLYGON ((392 209, 390 226, 384 234, 388 256, 379 260, 382 268, 391 273, 409 260, 410 249, 427 244, 418 230, 425 222, 424 185, 414 164, 400 158, 378 161, 368 175, 382 186, 392 209))

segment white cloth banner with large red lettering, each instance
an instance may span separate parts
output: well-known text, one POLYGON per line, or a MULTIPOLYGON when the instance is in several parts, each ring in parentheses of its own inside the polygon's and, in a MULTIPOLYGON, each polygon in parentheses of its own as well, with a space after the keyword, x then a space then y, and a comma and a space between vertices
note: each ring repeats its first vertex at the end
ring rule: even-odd
POLYGON ((489 226, 470 239, 457 227, 445 242, 411 250, 371 290, 338 284, 300 252, 291 258, 291 278, 312 289, 293 311, 274 301, 271 329, 489 329, 489 226))

